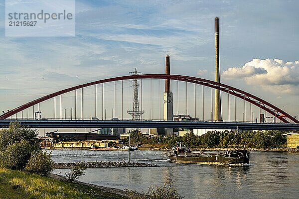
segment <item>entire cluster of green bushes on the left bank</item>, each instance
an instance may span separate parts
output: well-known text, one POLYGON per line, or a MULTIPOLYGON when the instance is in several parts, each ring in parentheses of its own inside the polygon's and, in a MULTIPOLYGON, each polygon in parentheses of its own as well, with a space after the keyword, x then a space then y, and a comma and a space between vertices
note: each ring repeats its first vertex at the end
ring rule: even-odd
POLYGON ((0 167, 23 170, 25 166, 28 171, 48 175, 53 161, 50 154, 41 151, 36 129, 11 122, 0 130, 0 167))

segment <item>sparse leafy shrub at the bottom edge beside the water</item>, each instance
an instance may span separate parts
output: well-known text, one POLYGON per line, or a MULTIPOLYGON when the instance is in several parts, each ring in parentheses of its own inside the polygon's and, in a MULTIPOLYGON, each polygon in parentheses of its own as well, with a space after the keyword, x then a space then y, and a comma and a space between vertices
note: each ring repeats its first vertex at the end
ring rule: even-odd
POLYGON ((172 184, 168 186, 164 184, 161 187, 150 186, 147 193, 131 191, 129 197, 130 199, 182 199, 172 184))

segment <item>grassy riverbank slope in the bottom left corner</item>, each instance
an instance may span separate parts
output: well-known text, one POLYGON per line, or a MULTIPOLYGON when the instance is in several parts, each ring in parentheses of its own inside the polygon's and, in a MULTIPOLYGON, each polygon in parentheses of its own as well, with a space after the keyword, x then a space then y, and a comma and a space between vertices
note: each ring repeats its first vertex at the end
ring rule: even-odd
POLYGON ((0 199, 126 199, 86 184, 0 168, 0 199))

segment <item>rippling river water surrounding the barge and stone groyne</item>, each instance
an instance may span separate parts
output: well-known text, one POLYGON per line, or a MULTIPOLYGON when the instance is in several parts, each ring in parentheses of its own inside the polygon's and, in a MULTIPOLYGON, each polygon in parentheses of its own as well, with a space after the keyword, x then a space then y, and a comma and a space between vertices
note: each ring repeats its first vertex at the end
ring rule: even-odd
MULTIPOLYGON (((128 160, 127 151, 51 150, 51 154, 57 163, 128 160)), ((250 152, 249 166, 178 164, 167 159, 167 151, 131 151, 131 161, 160 167, 89 168, 79 181, 139 192, 172 183, 185 199, 299 198, 298 152, 250 152)))

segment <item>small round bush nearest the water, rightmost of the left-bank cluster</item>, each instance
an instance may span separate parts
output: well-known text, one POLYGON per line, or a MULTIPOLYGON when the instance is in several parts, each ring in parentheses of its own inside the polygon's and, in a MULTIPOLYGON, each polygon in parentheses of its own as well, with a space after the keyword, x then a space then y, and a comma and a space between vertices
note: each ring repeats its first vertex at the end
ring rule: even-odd
POLYGON ((49 176, 53 166, 54 162, 51 159, 51 154, 40 150, 31 153, 25 170, 42 176, 49 176))

